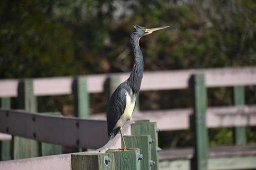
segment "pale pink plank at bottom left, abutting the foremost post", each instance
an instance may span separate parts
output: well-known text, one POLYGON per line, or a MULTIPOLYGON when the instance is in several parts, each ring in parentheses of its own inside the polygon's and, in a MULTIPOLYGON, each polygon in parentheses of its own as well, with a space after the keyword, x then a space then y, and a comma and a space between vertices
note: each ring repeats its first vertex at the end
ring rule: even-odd
POLYGON ((72 170, 71 154, 41 156, 26 159, 0 161, 0 169, 5 170, 72 170))

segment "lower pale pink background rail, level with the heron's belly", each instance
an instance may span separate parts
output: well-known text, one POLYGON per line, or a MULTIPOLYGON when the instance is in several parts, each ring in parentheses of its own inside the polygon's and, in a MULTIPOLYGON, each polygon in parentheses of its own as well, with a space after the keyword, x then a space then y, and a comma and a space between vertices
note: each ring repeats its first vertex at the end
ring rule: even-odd
MULTIPOLYGON (((181 130, 190 126, 192 108, 176 108, 166 110, 145 110, 133 114, 133 120, 144 120, 157 122, 160 130, 181 130)), ((105 113, 90 115, 90 119, 105 120, 105 113)), ((256 105, 236 106, 213 106, 207 108, 207 127, 233 127, 233 126, 255 126, 256 105)))

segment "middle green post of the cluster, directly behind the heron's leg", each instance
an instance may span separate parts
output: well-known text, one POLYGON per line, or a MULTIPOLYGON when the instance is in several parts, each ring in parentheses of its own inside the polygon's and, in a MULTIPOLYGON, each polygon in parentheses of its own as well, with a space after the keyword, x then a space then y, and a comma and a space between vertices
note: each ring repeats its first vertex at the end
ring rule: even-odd
POLYGON ((124 136, 124 141, 127 148, 139 148, 140 153, 143 154, 143 160, 141 160, 141 170, 151 169, 151 166, 155 164, 155 161, 151 159, 152 138, 150 135, 124 136))

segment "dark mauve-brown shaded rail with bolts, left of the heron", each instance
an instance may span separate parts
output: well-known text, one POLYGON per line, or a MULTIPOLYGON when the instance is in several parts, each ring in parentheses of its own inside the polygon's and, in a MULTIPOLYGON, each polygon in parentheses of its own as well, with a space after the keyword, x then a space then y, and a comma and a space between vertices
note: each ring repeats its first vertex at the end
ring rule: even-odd
POLYGON ((104 120, 0 109, 0 132, 65 146, 99 148, 108 141, 104 120))

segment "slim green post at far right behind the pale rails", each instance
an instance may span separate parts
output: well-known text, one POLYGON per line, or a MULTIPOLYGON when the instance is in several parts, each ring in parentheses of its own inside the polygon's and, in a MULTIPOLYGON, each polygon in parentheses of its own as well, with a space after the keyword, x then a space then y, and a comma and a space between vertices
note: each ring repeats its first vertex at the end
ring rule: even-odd
MULTIPOLYGON (((245 104, 244 86, 233 87, 233 103, 242 107, 245 104)), ((237 126, 233 128, 233 143, 236 145, 246 144, 246 127, 237 126)))

